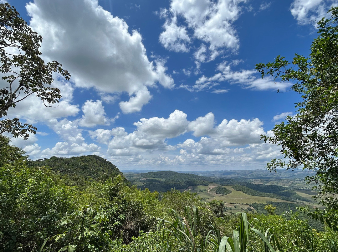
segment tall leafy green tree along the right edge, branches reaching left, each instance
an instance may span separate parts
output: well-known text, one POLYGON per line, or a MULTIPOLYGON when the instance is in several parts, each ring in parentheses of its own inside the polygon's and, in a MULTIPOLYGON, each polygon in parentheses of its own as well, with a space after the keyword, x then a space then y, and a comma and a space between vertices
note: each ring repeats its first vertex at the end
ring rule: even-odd
POLYGON ((308 58, 296 54, 292 62, 277 56, 274 62, 257 64, 262 77, 293 83, 291 89, 302 95, 297 114, 275 125, 265 141, 281 146, 285 159, 272 159, 267 168, 315 171, 306 177, 315 182, 319 202, 326 210, 309 213, 338 229, 338 7, 329 10, 331 19, 318 22, 319 36, 311 45, 308 58))

